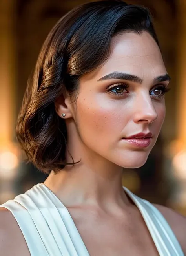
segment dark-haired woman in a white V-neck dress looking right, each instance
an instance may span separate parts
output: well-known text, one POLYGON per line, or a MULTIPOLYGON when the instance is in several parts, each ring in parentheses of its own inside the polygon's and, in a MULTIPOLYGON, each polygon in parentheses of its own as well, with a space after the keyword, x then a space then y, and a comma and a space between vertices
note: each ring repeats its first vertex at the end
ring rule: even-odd
POLYGON ((1 205, 2 255, 184 255, 186 219, 121 183, 157 140, 169 81, 144 7, 98 1, 61 18, 16 129, 29 161, 51 172, 1 205))

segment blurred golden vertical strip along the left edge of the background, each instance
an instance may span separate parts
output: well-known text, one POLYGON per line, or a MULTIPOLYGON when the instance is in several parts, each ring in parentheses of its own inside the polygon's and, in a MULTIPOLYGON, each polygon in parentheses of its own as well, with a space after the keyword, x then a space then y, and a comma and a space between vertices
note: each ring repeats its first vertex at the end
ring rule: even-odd
POLYGON ((15 124, 15 16, 14 1, 0 1, 0 147, 12 141, 15 124))

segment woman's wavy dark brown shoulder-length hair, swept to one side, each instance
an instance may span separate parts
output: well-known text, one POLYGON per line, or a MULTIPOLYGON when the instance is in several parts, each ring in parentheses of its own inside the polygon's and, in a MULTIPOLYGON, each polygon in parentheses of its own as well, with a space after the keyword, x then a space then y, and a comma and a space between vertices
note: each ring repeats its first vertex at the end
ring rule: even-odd
POLYGON ((55 112, 55 100, 64 89, 76 93, 80 76, 108 59, 114 35, 142 31, 159 45, 148 9, 122 0, 80 5, 57 22, 42 46, 18 115, 16 135, 29 162, 46 173, 74 164, 66 162, 66 124, 55 112))

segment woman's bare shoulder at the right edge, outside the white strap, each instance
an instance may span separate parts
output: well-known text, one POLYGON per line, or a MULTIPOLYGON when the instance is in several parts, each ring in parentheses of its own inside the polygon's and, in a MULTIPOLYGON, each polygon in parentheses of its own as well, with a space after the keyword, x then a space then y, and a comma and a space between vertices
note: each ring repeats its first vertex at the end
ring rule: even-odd
POLYGON ((173 230, 175 236, 177 237, 177 240, 179 241, 184 254, 186 254, 186 217, 163 205, 154 204, 154 206, 164 216, 171 229, 173 230))

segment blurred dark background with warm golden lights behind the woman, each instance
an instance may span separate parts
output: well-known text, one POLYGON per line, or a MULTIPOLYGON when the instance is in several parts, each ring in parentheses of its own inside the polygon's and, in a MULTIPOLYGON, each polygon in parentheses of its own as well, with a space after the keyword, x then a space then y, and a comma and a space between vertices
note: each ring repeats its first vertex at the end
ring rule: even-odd
MULTIPOLYGON (((46 175, 23 161, 15 122, 27 79, 47 34, 85 0, 0 1, 0 203, 43 182, 46 175)), ((126 1, 150 8, 171 76, 166 120, 148 161, 124 169, 123 185, 135 194, 186 215, 186 1, 126 1)))

